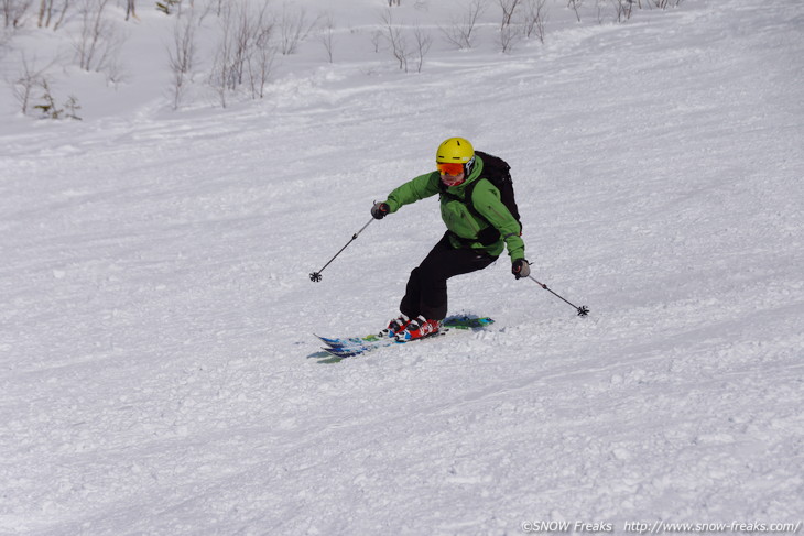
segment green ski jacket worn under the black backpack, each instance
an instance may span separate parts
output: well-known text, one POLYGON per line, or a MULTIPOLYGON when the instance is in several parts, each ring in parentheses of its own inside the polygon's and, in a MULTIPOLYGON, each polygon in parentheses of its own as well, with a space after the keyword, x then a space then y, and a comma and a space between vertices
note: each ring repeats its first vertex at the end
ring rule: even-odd
MULTIPOLYGON (((499 256, 503 248, 508 248, 511 262, 525 258, 525 244, 520 237, 520 225, 511 216, 506 205, 500 200, 500 190, 489 181, 482 181, 482 160, 475 156, 475 166, 469 177, 457 186, 447 188, 450 196, 441 197, 441 216, 449 232, 449 242, 453 248, 471 248, 481 250, 491 256, 499 256), (478 233, 489 227, 489 223, 474 216, 466 204, 454 199, 456 196, 464 199, 464 190, 470 183, 480 181, 471 195, 471 203, 484 218, 499 232, 500 238, 490 244, 484 245, 478 240, 478 233), (461 240, 463 239, 463 240, 461 240)), ((441 175, 431 172, 420 175, 399 186, 388 195, 385 203, 391 212, 400 207, 410 205, 420 199, 432 197, 441 193, 441 175)))

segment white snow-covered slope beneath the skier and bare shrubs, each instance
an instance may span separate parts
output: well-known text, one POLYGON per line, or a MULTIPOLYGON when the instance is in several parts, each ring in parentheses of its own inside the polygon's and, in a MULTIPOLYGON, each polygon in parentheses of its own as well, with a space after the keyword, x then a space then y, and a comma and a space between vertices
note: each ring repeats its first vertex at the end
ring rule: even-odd
POLYGON ((262 101, 173 112, 149 2, 117 90, 59 74, 84 121, 0 91, 0 534, 802 522, 804 3, 553 2, 510 55, 490 11, 406 75, 355 30, 374 3, 262 101), (323 363, 313 332, 396 313, 437 201, 307 274, 450 135, 511 163, 534 275, 591 314, 502 258, 450 282, 486 331, 323 363))

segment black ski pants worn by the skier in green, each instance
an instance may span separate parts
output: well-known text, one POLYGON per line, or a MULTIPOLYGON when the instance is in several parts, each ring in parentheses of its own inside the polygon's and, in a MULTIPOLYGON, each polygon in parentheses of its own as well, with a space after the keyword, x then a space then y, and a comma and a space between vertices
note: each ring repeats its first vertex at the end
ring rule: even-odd
POLYGON ((469 248, 455 249, 448 233, 444 234, 411 272, 400 310, 410 318, 422 315, 428 320, 443 320, 447 316, 447 280, 482 270, 496 260, 469 248))

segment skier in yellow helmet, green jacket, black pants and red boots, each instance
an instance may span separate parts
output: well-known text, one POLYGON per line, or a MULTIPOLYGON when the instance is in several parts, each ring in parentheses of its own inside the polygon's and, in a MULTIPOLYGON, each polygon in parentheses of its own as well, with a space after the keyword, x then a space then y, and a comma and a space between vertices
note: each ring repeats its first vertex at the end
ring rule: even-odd
POLYGON ((504 248, 514 277, 531 273, 521 226, 500 200, 500 190, 489 181, 481 181, 484 162, 471 143, 449 138, 438 145, 435 162, 436 171, 404 183, 371 207, 371 216, 382 219, 404 205, 442 194, 441 214, 447 231, 411 272, 400 304, 401 315, 387 328, 389 337, 400 340, 436 333, 447 315, 447 280, 485 269, 504 248), (472 183, 477 184, 471 187, 471 199, 464 199, 472 183))

